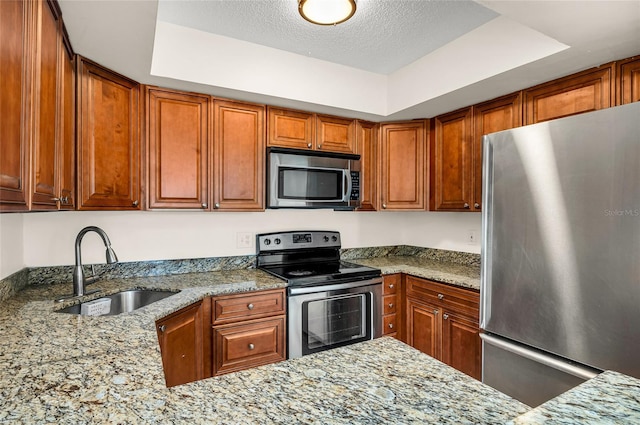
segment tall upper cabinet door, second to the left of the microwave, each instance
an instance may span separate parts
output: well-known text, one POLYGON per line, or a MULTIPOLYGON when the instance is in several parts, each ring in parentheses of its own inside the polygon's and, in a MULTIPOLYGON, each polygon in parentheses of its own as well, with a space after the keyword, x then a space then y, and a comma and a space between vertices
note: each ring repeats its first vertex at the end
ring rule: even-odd
POLYGON ((149 208, 208 205, 210 97, 145 89, 149 208))

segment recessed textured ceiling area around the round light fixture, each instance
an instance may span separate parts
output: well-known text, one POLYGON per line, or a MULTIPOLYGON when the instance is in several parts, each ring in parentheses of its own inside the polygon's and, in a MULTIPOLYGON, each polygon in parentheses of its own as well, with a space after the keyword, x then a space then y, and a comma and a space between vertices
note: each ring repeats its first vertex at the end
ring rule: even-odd
POLYGON ((302 19, 297 4, 160 0, 158 20, 390 74, 498 16, 467 0, 359 0, 353 18, 327 27, 302 19))

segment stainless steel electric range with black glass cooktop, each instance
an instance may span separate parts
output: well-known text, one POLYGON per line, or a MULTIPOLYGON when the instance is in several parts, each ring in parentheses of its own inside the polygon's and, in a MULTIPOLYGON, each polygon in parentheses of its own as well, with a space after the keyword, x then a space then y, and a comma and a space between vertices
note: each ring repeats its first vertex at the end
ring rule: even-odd
POLYGON ((287 281, 288 358, 382 335, 380 270, 340 260, 340 233, 257 235, 258 268, 287 281))

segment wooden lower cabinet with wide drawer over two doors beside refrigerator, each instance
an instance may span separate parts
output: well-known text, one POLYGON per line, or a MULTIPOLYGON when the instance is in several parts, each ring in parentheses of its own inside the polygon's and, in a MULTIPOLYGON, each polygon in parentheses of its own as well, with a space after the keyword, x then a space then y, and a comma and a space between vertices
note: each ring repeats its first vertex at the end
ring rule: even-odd
POLYGON ((478 292, 407 276, 407 344, 481 378, 478 292))

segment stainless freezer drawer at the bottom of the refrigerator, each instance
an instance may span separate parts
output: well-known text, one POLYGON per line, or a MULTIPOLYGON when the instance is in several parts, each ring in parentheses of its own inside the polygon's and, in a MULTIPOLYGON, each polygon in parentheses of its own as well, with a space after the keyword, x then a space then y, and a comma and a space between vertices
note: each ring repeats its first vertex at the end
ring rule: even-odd
POLYGON ((536 407, 601 371, 481 334, 482 382, 536 407))

